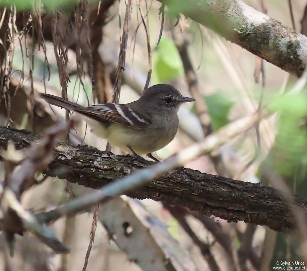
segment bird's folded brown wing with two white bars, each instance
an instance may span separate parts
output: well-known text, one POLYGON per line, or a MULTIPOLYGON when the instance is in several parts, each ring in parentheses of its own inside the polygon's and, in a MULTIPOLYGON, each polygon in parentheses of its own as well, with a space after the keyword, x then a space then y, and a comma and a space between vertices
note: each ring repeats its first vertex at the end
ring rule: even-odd
POLYGON ((143 130, 151 124, 149 118, 126 104, 105 103, 84 108, 82 111, 104 120, 116 122, 136 130, 143 130))

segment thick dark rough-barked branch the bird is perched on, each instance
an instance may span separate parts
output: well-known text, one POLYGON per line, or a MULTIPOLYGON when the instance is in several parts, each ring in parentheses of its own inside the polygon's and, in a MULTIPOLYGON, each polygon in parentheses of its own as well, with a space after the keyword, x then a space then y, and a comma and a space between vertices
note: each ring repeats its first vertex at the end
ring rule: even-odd
MULTIPOLYGON (((10 140, 17 149, 24 149, 40 139, 41 137, 29 131, 0 126, 0 148, 6 148, 10 140)), ((46 172, 48 175, 91 188, 100 188, 153 164, 130 156, 114 155, 96 148, 73 146, 64 142, 56 146, 54 157, 46 172)), ((229 222, 243 220, 247 223, 266 225, 276 231, 295 231, 293 215, 278 190, 189 168, 174 170, 153 180, 151 184, 128 193, 127 196, 138 199, 150 198, 188 207, 200 214, 214 215, 229 222)), ((299 196, 296 196, 296 199, 306 213, 306 199, 299 196)))

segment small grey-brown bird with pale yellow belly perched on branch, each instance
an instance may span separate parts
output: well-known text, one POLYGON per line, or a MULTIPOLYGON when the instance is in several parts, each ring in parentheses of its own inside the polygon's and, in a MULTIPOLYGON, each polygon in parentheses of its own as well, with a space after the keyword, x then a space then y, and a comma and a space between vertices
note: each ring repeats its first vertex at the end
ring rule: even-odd
POLYGON ((136 157, 147 154, 154 161, 159 160, 152 153, 169 144, 177 133, 177 112, 181 104, 195 101, 167 84, 153 85, 137 101, 126 104, 84 107, 50 94, 39 96, 49 104, 80 113, 91 132, 107 139, 111 145, 136 157))

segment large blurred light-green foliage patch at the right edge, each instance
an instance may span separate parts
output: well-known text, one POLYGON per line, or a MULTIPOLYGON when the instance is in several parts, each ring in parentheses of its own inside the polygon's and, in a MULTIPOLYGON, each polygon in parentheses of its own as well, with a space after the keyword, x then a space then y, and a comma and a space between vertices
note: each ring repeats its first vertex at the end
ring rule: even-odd
POLYGON ((288 185, 292 187, 294 176, 297 183, 304 181, 307 169, 306 94, 276 97, 270 110, 279 114, 278 134, 265 162, 288 179, 288 185))

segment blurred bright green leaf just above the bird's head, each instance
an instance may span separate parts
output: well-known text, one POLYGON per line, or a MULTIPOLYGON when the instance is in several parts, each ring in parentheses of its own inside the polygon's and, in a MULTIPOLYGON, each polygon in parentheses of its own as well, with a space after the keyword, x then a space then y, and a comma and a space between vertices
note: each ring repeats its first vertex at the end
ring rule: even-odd
POLYGON ((157 83, 173 80, 183 75, 184 70, 178 50, 170 38, 161 38, 152 53, 152 79, 157 83))

